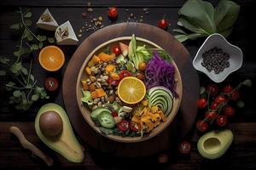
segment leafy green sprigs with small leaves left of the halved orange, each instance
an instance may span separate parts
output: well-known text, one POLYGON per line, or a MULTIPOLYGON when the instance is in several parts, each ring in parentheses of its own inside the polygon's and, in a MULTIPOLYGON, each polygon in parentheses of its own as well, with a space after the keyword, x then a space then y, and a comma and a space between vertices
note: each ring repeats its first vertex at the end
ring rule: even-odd
POLYGON ((15 105, 18 110, 26 111, 38 99, 49 99, 44 88, 38 86, 38 81, 32 75, 33 59, 30 57, 30 65, 28 70, 22 65, 22 55, 30 55, 32 51, 43 48, 44 42, 55 42, 52 37, 34 34, 30 26, 32 26, 32 12, 28 9, 25 12, 20 8, 17 11, 20 14, 20 22, 10 26, 11 29, 21 32, 20 43, 14 52, 15 62, 4 56, 0 56, 0 64, 5 66, 5 70, 0 70, 0 76, 7 73, 13 78, 12 81, 5 84, 6 89, 11 93, 9 104, 15 105))

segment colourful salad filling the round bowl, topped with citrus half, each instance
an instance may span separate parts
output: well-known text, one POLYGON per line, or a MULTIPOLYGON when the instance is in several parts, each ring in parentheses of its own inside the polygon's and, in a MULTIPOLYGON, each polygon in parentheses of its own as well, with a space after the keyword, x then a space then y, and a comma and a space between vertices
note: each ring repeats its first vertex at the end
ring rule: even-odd
POLYGON ((81 80, 82 102, 102 133, 143 136, 172 112, 176 80, 172 58, 163 49, 114 43, 93 55, 81 80))

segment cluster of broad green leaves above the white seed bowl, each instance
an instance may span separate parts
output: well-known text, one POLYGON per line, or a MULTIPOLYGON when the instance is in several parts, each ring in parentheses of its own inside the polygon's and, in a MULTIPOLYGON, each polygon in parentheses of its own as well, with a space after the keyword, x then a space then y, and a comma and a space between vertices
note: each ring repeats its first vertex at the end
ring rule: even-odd
POLYGON ((229 37, 239 11, 240 6, 232 1, 222 0, 216 8, 213 8, 212 3, 189 0, 178 11, 177 25, 191 33, 174 29, 173 31, 178 33, 175 37, 180 42, 207 37, 217 32, 224 37, 229 37))

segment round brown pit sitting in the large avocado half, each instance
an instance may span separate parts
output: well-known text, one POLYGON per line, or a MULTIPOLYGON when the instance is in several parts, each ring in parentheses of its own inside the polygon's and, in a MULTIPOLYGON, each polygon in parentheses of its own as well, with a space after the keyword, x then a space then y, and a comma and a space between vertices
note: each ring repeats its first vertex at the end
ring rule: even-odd
POLYGON ((46 136, 56 136, 61 133, 63 122, 55 111, 46 111, 39 118, 39 127, 46 136))

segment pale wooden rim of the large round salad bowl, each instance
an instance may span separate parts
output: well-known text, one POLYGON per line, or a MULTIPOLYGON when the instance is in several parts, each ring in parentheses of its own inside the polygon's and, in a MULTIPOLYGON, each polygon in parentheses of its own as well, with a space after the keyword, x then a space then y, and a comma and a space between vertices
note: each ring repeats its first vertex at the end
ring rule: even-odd
MULTIPOLYGON (((142 38, 142 37, 136 37, 136 38, 137 38, 137 41, 148 43, 149 45, 152 45, 155 48, 160 48, 159 45, 157 45, 156 43, 151 42, 151 41, 149 41, 149 40, 147 40, 145 38, 142 38)), ((144 135, 143 137, 125 137, 125 138, 122 138, 120 136, 113 135, 113 134, 105 135, 105 134, 103 134, 98 129, 98 127, 96 127, 95 125, 91 125, 91 123, 89 122, 89 120, 87 120, 87 118, 84 116, 84 113, 82 111, 83 109, 85 109, 85 110, 86 109, 89 110, 89 109, 86 106, 84 106, 83 103, 81 102, 81 100, 79 99, 79 93, 81 94, 81 89, 79 88, 79 87, 81 87, 80 79, 81 79, 81 76, 83 74, 84 67, 88 64, 88 62, 89 62, 90 58, 93 56, 93 54, 95 54, 99 49, 101 49, 104 46, 106 46, 106 45, 108 45, 110 43, 113 43, 113 42, 129 41, 129 40, 131 40, 131 36, 128 36, 128 37, 127 36, 126 37, 116 37, 116 38, 113 38, 111 40, 108 40, 107 42, 102 42, 100 45, 98 45, 97 48, 95 48, 93 51, 91 51, 90 54, 84 59, 84 63, 80 67, 81 69, 79 71, 79 76, 77 77, 77 82, 76 82, 76 97, 77 97, 77 103, 79 105, 79 111, 80 111, 79 114, 82 114, 82 116, 84 117, 85 121, 90 125, 90 127, 92 129, 94 129, 96 131, 96 133, 100 133, 102 136, 104 136, 104 137, 106 137, 108 139, 112 139, 114 141, 121 142, 121 143, 137 143, 137 142, 142 142, 144 140, 151 139, 154 136, 158 135, 159 133, 163 132, 166 129, 166 127, 168 127, 171 124, 171 122, 173 121, 174 117, 177 115, 177 111, 179 110, 179 107, 181 105, 181 100, 182 100, 182 95, 183 95, 183 84, 182 84, 181 75, 180 75, 180 72, 179 72, 179 70, 177 68, 176 63, 174 62, 174 60, 172 60, 172 64, 176 68, 176 78, 177 78, 178 83, 179 83, 179 88, 177 88, 177 89, 179 89, 179 92, 178 92, 179 97, 178 97, 178 99, 175 99, 175 101, 177 102, 176 110, 175 111, 173 110, 173 113, 169 114, 169 116, 172 115, 172 117, 170 117, 170 120, 161 123, 161 124, 165 123, 164 127, 162 127, 160 130, 158 130, 156 133, 152 133, 151 132, 148 135, 144 135)), ((160 48, 160 49, 162 49, 162 48, 160 48)), ((155 127, 155 128, 157 128, 157 127, 155 127)))

